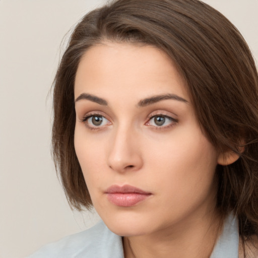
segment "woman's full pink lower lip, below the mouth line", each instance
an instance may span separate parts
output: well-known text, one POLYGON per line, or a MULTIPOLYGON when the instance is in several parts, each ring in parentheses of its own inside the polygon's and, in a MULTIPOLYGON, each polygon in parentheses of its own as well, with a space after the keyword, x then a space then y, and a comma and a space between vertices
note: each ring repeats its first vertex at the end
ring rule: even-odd
POLYGON ((143 194, 143 193, 136 193, 136 192, 129 192, 129 193, 107 193, 107 199, 109 202, 116 206, 122 207, 130 207, 134 206, 144 200, 146 200, 150 194, 143 194))

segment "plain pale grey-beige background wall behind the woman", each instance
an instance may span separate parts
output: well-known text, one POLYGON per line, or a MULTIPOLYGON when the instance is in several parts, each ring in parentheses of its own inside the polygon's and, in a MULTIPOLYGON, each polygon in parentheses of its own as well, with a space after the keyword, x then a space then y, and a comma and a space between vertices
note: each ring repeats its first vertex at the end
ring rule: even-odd
MULTIPOLYGON (((105 0, 0 0, 0 258, 90 227, 72 212, 50 155, 48 92, 63 36, 105 0)), ((240 30, 258 59, 258 0, 206 0, 240 30)))

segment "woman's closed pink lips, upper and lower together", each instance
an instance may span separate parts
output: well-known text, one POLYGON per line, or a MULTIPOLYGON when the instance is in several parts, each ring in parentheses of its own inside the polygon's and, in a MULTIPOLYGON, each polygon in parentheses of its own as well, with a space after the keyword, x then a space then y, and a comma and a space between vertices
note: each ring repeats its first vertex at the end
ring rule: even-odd
POLYGON ((111 185, 105 191, 109 202, 116 206, 130 207, 144 201, 152 195, 142 189, 131 185, 111 185))

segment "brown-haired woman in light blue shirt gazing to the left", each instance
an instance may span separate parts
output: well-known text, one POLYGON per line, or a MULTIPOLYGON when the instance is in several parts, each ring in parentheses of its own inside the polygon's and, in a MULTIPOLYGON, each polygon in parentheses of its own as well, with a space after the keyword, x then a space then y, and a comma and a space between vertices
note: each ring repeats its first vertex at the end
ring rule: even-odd
POLYGON ((258 77, 198 0, 118 0, 75 28, 54 81, 53 154, 103 222, 31 257, 257 257, 258 77))

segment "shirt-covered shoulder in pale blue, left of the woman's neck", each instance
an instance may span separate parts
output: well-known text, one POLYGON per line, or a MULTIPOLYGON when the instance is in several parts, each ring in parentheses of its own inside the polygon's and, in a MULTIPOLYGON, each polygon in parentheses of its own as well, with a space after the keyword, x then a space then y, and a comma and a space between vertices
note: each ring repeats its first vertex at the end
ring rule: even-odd
POLYGON ((88 230, 47 244, 27 258, 122 257, 122 252, 121 237, 100 222, 88 230))

